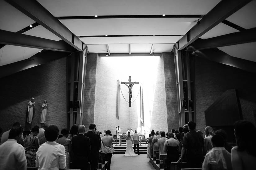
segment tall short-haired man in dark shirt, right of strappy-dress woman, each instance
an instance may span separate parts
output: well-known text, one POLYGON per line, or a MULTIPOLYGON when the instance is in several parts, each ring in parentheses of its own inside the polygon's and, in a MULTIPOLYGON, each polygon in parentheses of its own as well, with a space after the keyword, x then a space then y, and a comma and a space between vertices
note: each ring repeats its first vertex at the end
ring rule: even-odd
POLYGON ((182 162, 186 154, 186 161, 189 168, 199 168, 204 160, 203 147, 204 138, 195 131, 195 122, 188 122, 189 132, 186 133, 182 141, 181 157, 178 162, 182 162))

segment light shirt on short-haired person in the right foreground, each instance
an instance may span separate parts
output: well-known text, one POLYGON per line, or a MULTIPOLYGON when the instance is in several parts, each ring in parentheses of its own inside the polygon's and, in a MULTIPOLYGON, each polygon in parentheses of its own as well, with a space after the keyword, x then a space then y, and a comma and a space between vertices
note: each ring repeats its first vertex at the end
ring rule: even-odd
POLYGON ((224 147, 213 147, 204 158, 202 170, 232 169, 231 153, 224 147))

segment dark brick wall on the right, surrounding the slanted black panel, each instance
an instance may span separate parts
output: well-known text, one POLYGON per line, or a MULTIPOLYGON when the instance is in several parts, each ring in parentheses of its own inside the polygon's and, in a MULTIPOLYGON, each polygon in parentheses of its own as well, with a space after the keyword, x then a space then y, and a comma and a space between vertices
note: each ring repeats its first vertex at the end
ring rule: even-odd
POLYGON ((255 77, 253 73, 195 56, 197 130, 204 132, 204 111, 228 89, 237 89, 243 119, 255 124, 255 77))

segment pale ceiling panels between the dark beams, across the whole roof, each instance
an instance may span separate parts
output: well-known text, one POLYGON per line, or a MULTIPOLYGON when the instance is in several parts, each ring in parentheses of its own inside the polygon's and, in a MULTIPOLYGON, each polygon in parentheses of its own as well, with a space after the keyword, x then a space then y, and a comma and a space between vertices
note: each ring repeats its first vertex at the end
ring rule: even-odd
MULTIPOLYGON (((202 19, 220 1, 38 0, 46 10, 57 17, 83 43, 87 44, 89 52, 106 53, 106 44, 108 44, 110 54, 150 53, 152 44, 154 44, 154 52, 171 52, 173 44, 181 39, 187 31, 197 24, 198 20, 202 19), (163 14, 166 16, 162 16, 163 14), (95 18, 94 15, 98 15, 98 17, 95 18), (129 51, 130 47, 131 51, 129 51)), ((256 27, 255 11, 256 0, 253 0, 229 16, 226 23, 219 23, 200 38, 208 39, 240 31, 234 25, 244 30, 254 28, 256 27)), ((18 32, 35 23, 33 19, 4 0, 0 0, 0 14, 1 30, 18 32)), ((61 40, 41 25, 32 27, 22 34, 55 41, 61 40)), ((25 60, 41 51, 37 48, 12 45, 0 47, 0 66, 25 60)), ((254 42, 219 49, 231 56, 256 62, 254 42), (235 52, 236 49, 240 49, 240 52, 235 52), (243 50, 246 52, 241 52, 243 50)))

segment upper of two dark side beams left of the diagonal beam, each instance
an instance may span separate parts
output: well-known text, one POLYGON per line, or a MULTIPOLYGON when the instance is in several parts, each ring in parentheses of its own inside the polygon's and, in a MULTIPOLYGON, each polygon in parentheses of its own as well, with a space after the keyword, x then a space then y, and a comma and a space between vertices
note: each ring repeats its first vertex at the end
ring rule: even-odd
POLYGON ((45 50, 74 52, 75 49, 63 40, 54 41, 35 37, 32 35, 25 35, 11 31, 0 30, 0 43, 8 45, 16 45, 21 47, 39 48, 45 50))

